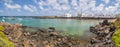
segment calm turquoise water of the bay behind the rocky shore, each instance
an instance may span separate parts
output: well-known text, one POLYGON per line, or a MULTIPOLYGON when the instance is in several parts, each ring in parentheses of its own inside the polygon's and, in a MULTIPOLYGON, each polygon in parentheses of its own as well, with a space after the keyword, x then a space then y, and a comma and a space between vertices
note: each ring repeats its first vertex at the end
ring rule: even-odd
POLYGON ((1 18, 1 21, 9 23, 21 23, 25 26, 49 28, 55 27, 69 35, 91 36, 89 27, 98 24, 102 20, 78 20, 78 19, 34 19, 34 18, 1 18))

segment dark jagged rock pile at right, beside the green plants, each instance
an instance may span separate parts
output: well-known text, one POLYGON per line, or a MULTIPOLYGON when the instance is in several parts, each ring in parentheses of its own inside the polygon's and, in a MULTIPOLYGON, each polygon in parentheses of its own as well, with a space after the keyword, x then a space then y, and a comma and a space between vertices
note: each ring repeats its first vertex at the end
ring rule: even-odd
POLYGON ((90 27, 90 32, 96 34, 95 38, 90 40, 90 43, 96 47, 115 47, 112 41, 113 33, 115 32, 113 23, 109 23, 108 20, 104 20, 95 27, 90 27))

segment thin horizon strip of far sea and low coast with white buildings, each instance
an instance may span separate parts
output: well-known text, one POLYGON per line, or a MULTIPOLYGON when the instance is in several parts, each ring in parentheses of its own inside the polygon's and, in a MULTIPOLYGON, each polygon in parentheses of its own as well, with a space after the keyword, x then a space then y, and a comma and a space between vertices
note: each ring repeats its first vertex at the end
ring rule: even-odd
POLYGON ((70 14, 60 16, 0 16, 0 17, 21 17, 21 18, 37 18, 37 19, 116 19, 117 15, 80 15, 72 16, 70 14))

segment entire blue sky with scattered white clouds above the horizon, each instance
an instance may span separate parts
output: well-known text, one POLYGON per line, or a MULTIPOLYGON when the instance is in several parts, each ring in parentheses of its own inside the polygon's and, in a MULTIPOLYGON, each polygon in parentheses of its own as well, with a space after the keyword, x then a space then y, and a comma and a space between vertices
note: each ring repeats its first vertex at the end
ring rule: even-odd
POLYGON ((0 0, 0 16, 118 14, 120 0, 0 0))

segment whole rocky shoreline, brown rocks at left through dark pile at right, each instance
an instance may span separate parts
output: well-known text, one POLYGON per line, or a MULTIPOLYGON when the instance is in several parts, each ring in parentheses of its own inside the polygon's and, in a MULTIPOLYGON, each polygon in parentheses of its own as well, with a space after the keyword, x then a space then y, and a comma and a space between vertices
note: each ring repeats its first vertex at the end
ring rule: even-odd
POLYGON ((0 25, 5 28, 3 32, 13 42, 14 47, 115 47, 111 40, 114 30, 110 32, 108 28, 111 26, 106 24, 101 26, 101 28, 105 28, 103 28, 104 30, 100 29, 99 26, 90 27, 90 31, 96 34, 96 37, 85 41, 57 32, 54 27, 40 29, 21 24, 12 25, 7 22, 0 22, 0 25), (99 32, 98 29, 101 31, 99 32))

